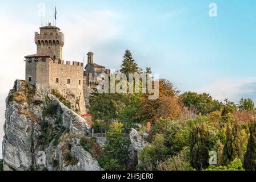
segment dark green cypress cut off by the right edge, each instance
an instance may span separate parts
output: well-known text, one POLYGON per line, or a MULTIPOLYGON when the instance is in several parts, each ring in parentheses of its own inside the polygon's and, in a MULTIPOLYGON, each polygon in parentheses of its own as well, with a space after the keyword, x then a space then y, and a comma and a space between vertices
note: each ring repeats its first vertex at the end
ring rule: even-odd
POLYGON ((250 123, 250 137, 243 166, 248 171, 256 171, 256 121, 250 123))

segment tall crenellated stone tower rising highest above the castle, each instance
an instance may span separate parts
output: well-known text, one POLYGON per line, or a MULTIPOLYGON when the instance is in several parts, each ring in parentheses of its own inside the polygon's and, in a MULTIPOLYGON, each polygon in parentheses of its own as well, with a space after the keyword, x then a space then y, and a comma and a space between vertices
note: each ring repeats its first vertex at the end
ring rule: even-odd
POLYGON ((58 27, 41 27, 40 34, 35 32, 35 44, 37 55, 50 56, 53 60, 62 60, 62 47, 64 46, 64 34, 58 27))

